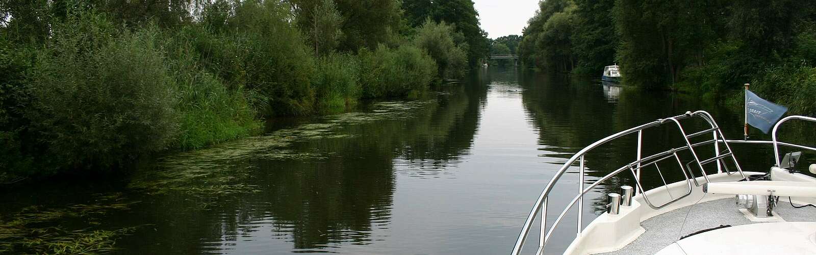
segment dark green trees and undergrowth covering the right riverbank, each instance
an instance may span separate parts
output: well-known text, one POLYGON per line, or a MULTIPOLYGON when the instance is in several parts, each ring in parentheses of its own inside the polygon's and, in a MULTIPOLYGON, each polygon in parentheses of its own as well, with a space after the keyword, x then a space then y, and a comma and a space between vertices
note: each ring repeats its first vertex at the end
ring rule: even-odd
POLYGON ((524 29, 522 65, 687 92, 734 109, 743 84, 791 114, 816 114, 816 7, 795 0, 546 0, 524 29))

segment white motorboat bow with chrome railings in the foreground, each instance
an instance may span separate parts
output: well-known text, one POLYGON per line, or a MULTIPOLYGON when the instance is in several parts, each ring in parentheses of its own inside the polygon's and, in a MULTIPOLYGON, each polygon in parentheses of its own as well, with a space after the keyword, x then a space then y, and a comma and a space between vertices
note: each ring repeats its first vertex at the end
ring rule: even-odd
MULTIPOLYGON (((711 114, 696 111, 596 141, 567 160, 545 186, 512 254, 816 254, 816 207, 806 206, 816 204, 816 178, 796 170, 808 168, 796 166, 800 153, 780 152, 816 148, 778 141, 778 127, 791 120, 816 123, 816 118, 788 116, 776 123, 771 141, 726 140, 711 114), (700 130, 684 129, 694 122, 700 130), (682 145, 646 148, 652 143, 644 141, 645 131, 667 128, 682 145), (636 141, 634 159, 585 181, 585 157, 622 139, 636 141), (747 166, 758 172, 743 170, 732 145, 773 148, 775 162, 747 166), (644 154, 654 151, 660 152, 644 154), (560 181, 568 179, 562 178, 565 172, 577 173, 578 180, 560 181), (645 177, 659 184, 641 192, 645 177), (556 186, 574 190, 574 196, 551 199, 556 186), (604 190, 600 198, 598 188, 604 190), (585 204, 599 200, 607 203, 605 212, 586 219, 585 204)), ((816 173, 816 164, 809 170, 816 173)))

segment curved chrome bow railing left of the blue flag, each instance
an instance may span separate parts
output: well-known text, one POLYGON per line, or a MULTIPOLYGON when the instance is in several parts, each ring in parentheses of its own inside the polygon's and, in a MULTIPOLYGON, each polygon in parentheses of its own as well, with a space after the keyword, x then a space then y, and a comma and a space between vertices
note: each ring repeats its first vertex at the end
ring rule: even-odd
MULTIPOLYGON (((705 172, 705 168, 703 168, 703 165, 706 165, 707 163, 716 162, 717 163, 717 165, 716 165, 717 172, 722 172, 722 169, 725 168, 726 172, 728 172, 729 175, 734 173, 734 172, 730 172, 727 169, 727 167, 725 166, 725 163, 722 162, 722 159, 726 159, 726 158, 732 159, 733 162, 734 162, 734 165, 737 168, 736 171, 739 172, 740 175, 742 175, 743 179, 746 178, 745 174, 742 171, 742 168, 739 167, 737 159, 734 157, 734 154, 731 152, 730 145, 728 145, 728 142, 726 142, 726 141, 727 140, 725 140, 725 137, 722 135, 722 132, 721 132, 719 126, 717 126, 716 122, 714 122, 714 120, 712 119, 711 114, 708 114, 705 111, 696 111, 694 113, 686 112, 685 114, 677 115, 677 116, 672 117, 672 118, 658 119, 658 120, 655 120, 655 121, 650 122, 650 123, 642 124, 642 125, 637 126, 635 128, 629 128, 629 129, 624 130, 622 132, 615 133, 614 135, 607 136, 607 137, 605 137, 605 138, 603 138, 603 139, 601 139, 599 141, 596 141, 596 142, 592 143, 591 145, 588 145, 587 147, 583 148, 582 150, 579 150, 578 153, 574 154, 570 159, 568 159, 566 161, 566 163, 564 163, 561 166, 561 168, 558 169, 558 171, 555 173, 555 175, 552 177, 552 179, 549 181, 547 186, 542 191, 541 195, 539 195, 539 199, 536 200, 533 209, 530 211, 530 215, 528 215, 527 220, 526 220, 524 226, 521 229, 521 233, 519 234, 518 239, 516 240, 516 245, 513 247, 512 254, 516 255, 516 254, 521 253, 521 249, 524 248, 524 244, 526 243, 527 235, 530 234, 530 230, 533 228, 534 220, 536 219, 536 217, 539 216, 539 213, 541 215, 541 217, 540 217, 540 226, 539 226, 539 231, 540 231, 540 234, 539 234, 539 248, 537 249, 536 254, 543 254, 544 247, 545 247, 546 244, 548 244, 548 241, 552 237, 552 234, 554 233, 556 227, 559 225, 559 223, 561 223, 561 221, 564 219, 566 213, 571 208, 573 208, 576 203, 578 204, 578 217, 577 217, 577 222, 576 222, 577 226, 578 226, 577 235, 580 236, 581 232, 583 230, 583 225, 582 225, 583 224, 583 195, 586 195, 590 190, 592 190, 593 188, 595 188, 596 186, 601 184, 601 182, 609 180, 610 177, 613 177, 614 175, 617 175, 620 172, 623 172, 623 171, 625 171, 627 169, 629 169, 632 172, 632 175, 635 177, 636 189, 637 189, 636 194, 637 194, 637 193, 641 192, 640 190, 643 190, 643 186, 641 186, 641 168, 650 167, 652 165, 654 165, 656 167, 657 163, 659 163, 659 162, 661 162, 663 160, 672 159, 672 158, 676 159, 676 162, 680 166, 681 172, 683 172, 683 175, 685 177, 685 181, 686 181, 686 184, 687 184, 688 191, 684 195, 680 195, 678 197, 673 197, 672 196, 672 198, 667 203, 659 204, 659 205, 653 204, 647 198, 647 196, 645 194, 643 194, 642 197, 644 198, 644 201, 645 201, 646 204, 648 204, 651 208, 657 209, 657 208, 663 208, 663 207, 667 206, 668 204, 672 204, 672 203, 674 203, 674 202, 676 202, 676 201, 678 201, 680 199, 683 199, 686 196, 690 195, 691 190, 692 190, 692 186, 691 186, 692 185, 692 180, 694 180, 694 177, 693 177, 693 174, 691 173, 692 172, 691 169, 688 168, 688 167, 686 167, 688 169, 684 168, 683 164, 681 163, 681 159, 680 159, 680 157, 678 156, 677 153, 682 151, 682 150, 689 150, 690 151, 690 154, 692 154, 692 157, 694 158, 694 160, 691 163, 695 163, 698 166, 702 176, 706 179, 706 181, 708 181, 708 177, 707 177, 708 174, 707 174, 707 172, 705 172), (687 135, 685 130, 683 129, 683 127, 681 125, 681 120, 690 119, 690 118, 694 118, 694 117, 704 119, 706 121, 706 123, 709 124, 710 128, 707 128, 706 130, 703 130, 703 131, 700 131, 700 132, 694 132, 694 133, 692 133, 690 135, 687 135), (653 155, 650 155, 650 156, 645 157, 645 158, 641 158, 641 152, 642 152, 641 149, 642 149, 642 146, 643 146, 643 131, 645 129, 648 129, 648 128, 659 127, 659 126, 661 126, 663 124, 667 124, 667 123, 676 124, 676 128, 678 128, 678 130, 681 132, 681 135, 683 136, 683 139, 685 141, 685 145, 681 146, 681 147, 678 147, 678 148, 673 148, 671 150, 666 150, 666 151, 663 151, 663 152, 658 153, 658 154, 653 154, 653 155), (585 187, 585 185, 583 183, 584 182, 583 181, 584 170, 585 170, 584 157, 590 151, 592 151, 593 149, 596 149, 597 147, 599 147, 601 145, 605 145, 606 143, 608 143, 610 141, 614 141, 616 139, 619 139, 620 137, 632 135, 632 134, 635 134, 635 133, 637 134, 636 160, 633 161, 632 163, 628 163, 627 165, 610 172, 609 174, 605 175, 604 177, 601 177, 600 179, 598 179, 596 181, 593 181, 592 184, 585 187), (691 138, 696 137, 696 136, 703 136, 703 135, 706 135, 706 134, 711 134, 713 139, 708 140, 708 141, 698 142, 698 143, 691 143, 691 141, 690 141, 691 138), (709 144, 712 144, 712 143, 714 144, 714 157, 711 158, 711 159, 700 160, 699 157, 698 157, 698 154, 696 153, 694 148, 698 147, 698 146, 701 146, 701 145, 709 145, 709 144), (722 151, 722 152, 720 151, 720 145, 721 144, 725 145, 725 149, 726 149, 725 151, 722 151), (558 180, 561 179, 561 177, 564 175, 564 173, 567 171, 567 169, 572 168, 573 164, 576 161, 579 162, 579 172, 578 172, 578 177, 579 177, 579 190, 578 191, 579 192, 578 192, 578 195, 576 195, 574 197, 574 199, 572 199, 570 201, 570 203, 566 205, 566 208, 564 208, 564 210, 562 210, 561 213, 558 214, 558 217, 556 217, 555 221, 553 221, 552 226, 550 226, 548 228, 547 227, 548 195, 550 195, 550 192, 552 191, 553 187, 556 185, 558 180), (691 177, 690 177, 690 174, 692 175, 691 177)), ((661 179, 663 179, 663 184, 667 185, 667 183, 665 181, 665 178, 663 177, 663 172, 661 172, 659 170, 659 168, 658 168, 658 173, 659 173, 661 179)), ((697 186, 702 185, 700 183, 697 183, 696 180, 694 180, 694 183, 697 186)))

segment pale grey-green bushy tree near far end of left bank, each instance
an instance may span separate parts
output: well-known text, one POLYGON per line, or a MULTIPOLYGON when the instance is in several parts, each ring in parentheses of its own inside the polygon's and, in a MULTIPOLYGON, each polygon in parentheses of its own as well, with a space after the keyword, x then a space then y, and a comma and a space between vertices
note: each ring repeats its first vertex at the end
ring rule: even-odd
POLYGON ((436 23, 431 19, 417 30, 414 44, 428 52, 437 62, 441 78, 461 78, 468 68, 468 56, 462 45, 456 45, 453 26, 445 21, 436 23))

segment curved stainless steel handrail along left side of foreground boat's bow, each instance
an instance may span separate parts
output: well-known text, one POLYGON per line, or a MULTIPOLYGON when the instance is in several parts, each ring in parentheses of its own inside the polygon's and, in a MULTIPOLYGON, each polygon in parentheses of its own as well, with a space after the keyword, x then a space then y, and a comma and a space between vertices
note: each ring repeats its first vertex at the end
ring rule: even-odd
MULTIPOLYGON (((647 160, 657 159, 657 158, 659 158, 661 156, 666 156, 668 154, 674 154, 674 156, 677 158, 677 156, 676 156, 677 151, 679 151, 679 150, 690 150, 691 154, 694 155, 694 159, 698 163, 698 166, 700 167, 700 169, 703 169, 703 165, 699 163, 700 160, 698 158, 698 155, 694 152, 694 147, 696 147, 698 145, 705 145, 705 144, 714 143, 715 150, 716 150, 715 157, 720 157, 721 154, 720 154, 720 151, 719 151, 719 143, 723 142, 723 144, 725 144, 725 147, 726 147, 726 149, 728 151, 728 154, 729 154, 728 156, 730 156, 734 160, 734 164, 737 166, 738 172, 743 176, 743 178, 745 178, 745 174, 742 172, 742 169, 739 168, 739 164, 737 163, 736 158, 734 158, 734 154, 730 153, 731 152, 730 146, 725 141, 726 141, 725 137, 722 135, 722 132, 721 132, 719 126, 717 126, 716 123, 714 122, 714 120, 712 119, 711 114, 708 114, 705 111, 696 111, 694 113, 686 112, 685 114, 677 115, 677 116, 674 116, 672 118, 658 119, 658 120, 655 120, 655 121, 650 122, 650 123, 642 124, 642 125, 637 126, 635 128, 629 128, 627 130, 617 132, 614 135, 606 136, 605 138, 603 138, 603 139, 601 139, 599 141, 593 142, 591 145, 588 145, 587 147, 583 148, 582 150, 579 150, 578 153, 574 154, 570 159, 568 159, 561 166, 561 168, 558 169, 556 174, 548 182, 547 186, 545 186, 545 188, 542 191, 541 195, 539 195, 539 198, 536 199, 536 202, 535 202, 535 205, 534 205, 533 209, 530 211, 530 214, 527 216, 527 220, 526 220, 524 226, 521 228, 521 233, 519 234, 519 237, 516 240, 516 245, 513 247, 512 254, 517 255, 517 254, 521 253, 521 249, 524 247, 524 244, 526 243, 527 235, 530 234, 530 229, 532 228, 535 217, 539 214, 539 212, 541 212, 542 217, 541 217, 541 222, 540 222, 539 248, 538 248, 536 254, 542 254, 544 246, 547 244, 548 239, 550 238, 550 236, 554 232, 555 228, 558 226, 558 223, 561 222, 561 219, 563 219, 566 212, 569 211, 570 208, 572 208, 573 205, 576 202, 579 202, 579 201, 583 202, 583 195, 586 195, 589 190, 592 190, 592 188, 594 188, 595 186, 598 186, 601 182, 606 181, 610 177, 613 177, 614 175, 618 174, 619 172, 623 172, 623 170, 625 170, 627 168, 632 169, 632 174, 636 177, 636 183, 637 183, 638 190, 642 190, 643 188, 642 188, 642 186, 640 184, 640 181, 639 181, 639 179, 640 179, 640 169, 642 167, 641 163, 644 163, 647 160), (682 127, 682 125, 680 123, 680 120, 689 119, 689 118, 692 118, 692 117, 700 117, 700 118, 706 120, 706 122, 711 126, 711 128, 707 129, 706 132, 712 132, 712 136, 713 136, 712 141, 704 141, 704 142, 695 143, 695 144, 692 144, 690 142, 690 140, 689 140, 690 136, 691 137, 699 136, 699 135, 702 135, 704 133, 704 132, 695 132, 692 135, 686 135, 685 134, 685 130, 683 129, 683 127, 682 127), (669 123, 669 122, 676 124, 677 128, 680 130, 681 134, 683 135, 683 138, 685 140, 686 145, 682 146, 680 148, 667 150, 666 152, 659 153, 659 154, 654 154, 654 155, 651 155, 651 156, 646 157, 644 159, 641 159, 641 145, 642 145, 641 140, 642 140, 643 130, 645 130, 647 128, 658 127, 660 125, 663 125, 664 123, 669 123), (610 172, 605 177, 601 177, 601 179, 592 182, 592 184, 590 186, 588 186, 586 188, 583 188, 583 175, 584 175, 583 159, 584 159, 584 156, 589 151, 597 148, 600 145, 604 145, 605 143, 607 143, 609 141, 613 141, 615 139, 618 139, 618 138, 623 137, 623 136, 628 136, 628 135, 631 135, 633 133, 637 133, 637 137, 638 137, 638 141, 637 141, 637 159, 636 159, 636 161, 633 162, 633 163, 628 164, 627 166, 619 168, 619 169, 617 169, 617 170, 615 170, 613 172, 610 172), (566 170, 571 168, 572 165, 575 163, 575 161, 578 161, 578 160, 580 160, 579 194, 576 195, 575 198, 570 201, 570 203, 566 206, 566 208, 559 214, 559 216, 553 222, 552 226, 549 229, 547 229, 548 195, 549 195, 550 191, 552 191, 552 188, 555 186, 557 181, 559 179, 561 179, 561 177, 564 175, 566 170), (633 167, 633 165, 636 165, 636 168, 633 167), (637 170, 634 171, 634 169, 637 169, 637 170)), ((664 158, 664 159, 666 159, 666 158, 664 158)), ((660 159, 660 160, 663 160, 663 159, 660 159)), ((680 159, 677 158, 677 160, 678 160, 678 163, 680 163, 680 159)), ((708 159, 706 159, 706 160, 708 160, 708 159)), ((709 162, 713 162, 713 161, 717 162, 718 172, 721 172, 721 170, 720 170, 721 169, 721 160, 713 159, 712 161, 709 161, 709 162)), ((685 169, 683 169, 682 164, 680 164, 680 165, 681 165, 681 170, 683 171, 683 173, 685 175, 685 169)), ((704 170, 703 170, 703 176, 704 177, 706 176, 704 170)), ((686 177, 686 181, 690 180, 688 175, 685 175, 685 177, 686 177)), ((706 177, 706 181, 708 181, 707 177, 706 177)), ((691 182, 689 181, 688 184, 689 184, 689 188, 690 188, 691 182)), ((685 195, 681 196, 681 197, 678 197, 676 199, 673 199, 672 201, 669 201, 667 204, 662 204, 660 206, 654 206, 653 204, 648 203, 648 202, 647 202, 647 204, 649 204, 650 207, 652 207, 652 208, 660 208, 660 207, 666 206, 668 204, 672 204, 676 200, 682 199, 683 197, 685 197, 685 195)), ((583 211, 583 205, 579 206, 578 235, 581 235, 581 231, 582 231, 582 226, 581 226, 582 214, 583 214, 582 211, 583 211)))

